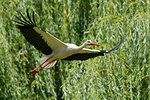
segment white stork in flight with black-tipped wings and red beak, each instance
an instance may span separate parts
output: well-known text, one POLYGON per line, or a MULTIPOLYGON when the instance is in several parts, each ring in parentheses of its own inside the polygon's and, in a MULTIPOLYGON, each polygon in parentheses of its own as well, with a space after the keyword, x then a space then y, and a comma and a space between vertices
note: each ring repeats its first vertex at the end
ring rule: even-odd
POLYGON ((22 18, 16 16, 18 19, 18 21, 15 21, 18 23, 16 26, 20 29, 28 42, 30 42, 36 49, 47 55, 39 60, 40 65, 31 71, 32 75, 38 73, 44 67, 53 67, 58 59, 87 60, 97 56, 104 56, 104 53, 117 50, 123 41, 123 39, 121 39, 120 43, 111 50, 91 50, 84 48, 87 45, 100 46, 99 44, 93 43, 91 40, 87 40, 81 46, 64 43, 48 32, 43 31, 36 25, 34 12, 32 13, 32 18, 29 15, 28 9, 26 13, 27 19, 22 15, 22 13, 20 13, 22 18))

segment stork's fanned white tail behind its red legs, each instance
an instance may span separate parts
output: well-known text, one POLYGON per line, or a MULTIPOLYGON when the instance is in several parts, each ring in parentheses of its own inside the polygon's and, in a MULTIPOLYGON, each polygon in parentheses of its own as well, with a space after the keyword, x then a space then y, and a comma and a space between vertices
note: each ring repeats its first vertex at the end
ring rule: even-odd
POLYGON ((50 68, 56 64, 57 60, 53 60, 50 55, 47 55, 45 57, 42 57, 39 60, 39 62, 40 62, 40 66, 45 67, 45 68, 50 68))

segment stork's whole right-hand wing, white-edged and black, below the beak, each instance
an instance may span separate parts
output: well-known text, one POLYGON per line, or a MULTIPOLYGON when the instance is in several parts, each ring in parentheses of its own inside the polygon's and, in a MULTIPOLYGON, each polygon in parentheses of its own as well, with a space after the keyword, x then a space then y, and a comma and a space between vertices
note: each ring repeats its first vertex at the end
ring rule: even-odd
POLYGON ((122 42, 123 42, 123 39, 121 39, 119 44, 111 50, 91 50, 91 49, 83 48, 83 50, 81 50, 77 54, 73 54, 67 58, 64 58, 63 60, 87 60, 89 58, 94 58, 97 56, 104 56, 104 53, 110 53, 114 50, 119 49, 122 42))

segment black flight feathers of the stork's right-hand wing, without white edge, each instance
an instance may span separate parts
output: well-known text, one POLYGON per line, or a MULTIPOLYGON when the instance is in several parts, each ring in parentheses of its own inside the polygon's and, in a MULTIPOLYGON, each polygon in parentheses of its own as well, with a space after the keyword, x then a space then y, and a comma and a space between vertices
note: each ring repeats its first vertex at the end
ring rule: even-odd
POLYGON ((63 60, 87 60, 89 58, 94 58, 97 56, 104 56, 104 53, 109 53, 109 52, 119 49, 122 42, 123 42, 123 39, 121 39, 119 44, 111 50, 100 50, 97 53, 77 53, 77 54, 71 55, 67 58, 64 58, 63 60))

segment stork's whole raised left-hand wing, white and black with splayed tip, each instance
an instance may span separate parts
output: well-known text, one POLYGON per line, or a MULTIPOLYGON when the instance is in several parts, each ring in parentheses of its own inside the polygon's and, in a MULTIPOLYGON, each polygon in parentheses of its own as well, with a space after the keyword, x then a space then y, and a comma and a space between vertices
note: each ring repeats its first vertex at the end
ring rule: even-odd
POLYGON ((28 9, 26 13, 27 18, 25 18, 22 13, 20 13, 21 18, 16 16, 18 19, 15 21, 18 23, 16 26, 20 29, 26 40, 30 42, 36 49, 48 55, 51 54, 54 49, 66 46, 59 39, 37 27, 34 19, 34 12, 32 14, 32 18, 29 15, 28 9))

